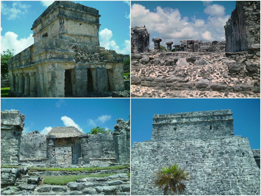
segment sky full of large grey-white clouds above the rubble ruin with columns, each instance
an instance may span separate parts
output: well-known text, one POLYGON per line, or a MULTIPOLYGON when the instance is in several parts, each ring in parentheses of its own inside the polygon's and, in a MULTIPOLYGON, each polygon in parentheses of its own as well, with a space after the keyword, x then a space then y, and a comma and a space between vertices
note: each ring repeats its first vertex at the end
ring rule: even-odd
POLYGON ((181 40, 224 41, 224 25, 235 9, 235 1, 132 1, 131 27, 146 26, 161 45, 181 40))

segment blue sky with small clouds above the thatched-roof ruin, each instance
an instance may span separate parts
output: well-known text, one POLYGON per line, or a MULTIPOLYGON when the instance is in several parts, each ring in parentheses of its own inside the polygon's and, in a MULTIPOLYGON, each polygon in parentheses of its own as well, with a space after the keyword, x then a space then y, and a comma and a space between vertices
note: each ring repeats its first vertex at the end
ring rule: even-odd
POLYGON ((116 120, 129 120, 129 99, 4 99, 1 111, 25 114, 24 130, 47 134, 55 126, 75 126, 87 133, 94 126, 114 130, 116 120))

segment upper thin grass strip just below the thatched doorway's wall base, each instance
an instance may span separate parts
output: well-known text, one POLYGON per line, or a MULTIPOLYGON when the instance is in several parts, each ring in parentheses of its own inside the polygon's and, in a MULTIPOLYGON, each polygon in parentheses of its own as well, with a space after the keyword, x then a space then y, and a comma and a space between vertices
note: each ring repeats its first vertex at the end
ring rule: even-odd
MULTIPOLYGON (((1 165, 1 168, 21 168, 23 166, 1 165)), ((40 168, 40 167, 27 167, 29 171, 95 171, 95 170, 108 170, 108 169, 125 169, 129 165, 123 166, 110 166, 110 167, 95 167, 95 168, 40 168)))

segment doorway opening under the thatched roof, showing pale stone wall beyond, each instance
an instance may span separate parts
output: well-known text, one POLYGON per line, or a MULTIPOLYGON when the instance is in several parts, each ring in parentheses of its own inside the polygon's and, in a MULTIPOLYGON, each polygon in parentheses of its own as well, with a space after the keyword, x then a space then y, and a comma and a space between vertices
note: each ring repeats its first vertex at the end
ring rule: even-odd
POLYGON ((55 158, 57 163, 71 165, 72 164, 72 147, 56 147, 55 148, 55 158))

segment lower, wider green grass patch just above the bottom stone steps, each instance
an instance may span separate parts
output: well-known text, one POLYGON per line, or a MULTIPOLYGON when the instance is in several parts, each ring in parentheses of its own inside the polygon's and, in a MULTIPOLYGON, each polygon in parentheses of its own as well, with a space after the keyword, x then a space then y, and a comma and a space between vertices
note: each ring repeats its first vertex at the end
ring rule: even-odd
MULTIPOLYGON (((117 174, 117 173, 116 173, 117 174)), ((130 177, 130 173, 127 173, 130 177)), ((74 182, 77 179, 87 177, 106 177, 114 174, 92 174, 92 175, 75 175, 75 176, 41 176, 43 184, 47 185, 66 185, 68 182, 74 182)))

